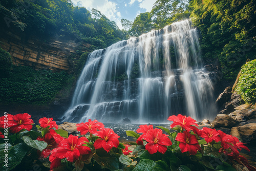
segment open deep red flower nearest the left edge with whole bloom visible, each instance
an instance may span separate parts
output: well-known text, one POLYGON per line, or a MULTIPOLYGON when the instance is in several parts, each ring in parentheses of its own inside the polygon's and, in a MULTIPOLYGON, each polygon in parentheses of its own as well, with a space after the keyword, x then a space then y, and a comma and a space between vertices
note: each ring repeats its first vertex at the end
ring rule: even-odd
POLYGON ((22 129, 30 131, 33 127, 32 123, 34 123, 32 119, 29 119, 30 117, 31 116, 27 113, 14 115, 12 117, 13 120, 8 122, 8 125, 10 126, 9 131, 11 133, 17 133, 22 129))

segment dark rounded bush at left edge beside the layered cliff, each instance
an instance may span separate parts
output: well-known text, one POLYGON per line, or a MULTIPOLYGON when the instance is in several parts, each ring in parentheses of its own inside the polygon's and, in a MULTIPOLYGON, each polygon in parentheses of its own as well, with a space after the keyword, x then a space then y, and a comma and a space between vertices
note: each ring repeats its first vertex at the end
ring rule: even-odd
POLYGON ((12 66, 12 57, 0 47, 0 78, 7 77, 10 74, 12 66))

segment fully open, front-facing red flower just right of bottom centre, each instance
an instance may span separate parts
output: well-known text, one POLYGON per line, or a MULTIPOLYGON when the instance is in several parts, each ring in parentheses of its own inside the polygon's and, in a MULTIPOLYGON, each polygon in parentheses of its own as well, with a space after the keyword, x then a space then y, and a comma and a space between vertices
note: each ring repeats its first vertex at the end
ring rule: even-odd
POLYGON ((143 139, 147 141, 145 147, 150 154, 157 152, 164 154, 167 150, 166 146, 172 145, 172 141, 160 129, 148 131, 143 139))

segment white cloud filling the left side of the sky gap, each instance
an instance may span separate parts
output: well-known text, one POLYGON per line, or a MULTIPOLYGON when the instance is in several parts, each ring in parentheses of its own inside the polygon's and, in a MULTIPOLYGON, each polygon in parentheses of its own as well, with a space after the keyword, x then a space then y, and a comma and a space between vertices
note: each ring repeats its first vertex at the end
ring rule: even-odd
MULTIPOLYGON (((141 0, 139 0, 141 1, 141 0)), ((102 14, 108 17, 110 20, 116 22, 119 28, 121 25, 121 13, 117 11, 117 4, 109 0, 72 0, 73 4, 86 7, 88 10, 93 8, 99 10, 102 14)))

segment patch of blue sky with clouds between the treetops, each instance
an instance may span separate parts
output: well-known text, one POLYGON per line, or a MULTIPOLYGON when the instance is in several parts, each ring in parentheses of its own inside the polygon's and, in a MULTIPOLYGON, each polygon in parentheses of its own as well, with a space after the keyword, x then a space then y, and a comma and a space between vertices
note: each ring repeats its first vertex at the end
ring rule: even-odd
POLYGON ((74 6, 95 8, 121 29, 121 18, 133 20, 139 13, 150 12, 156 0, 71 0, 74 6))

